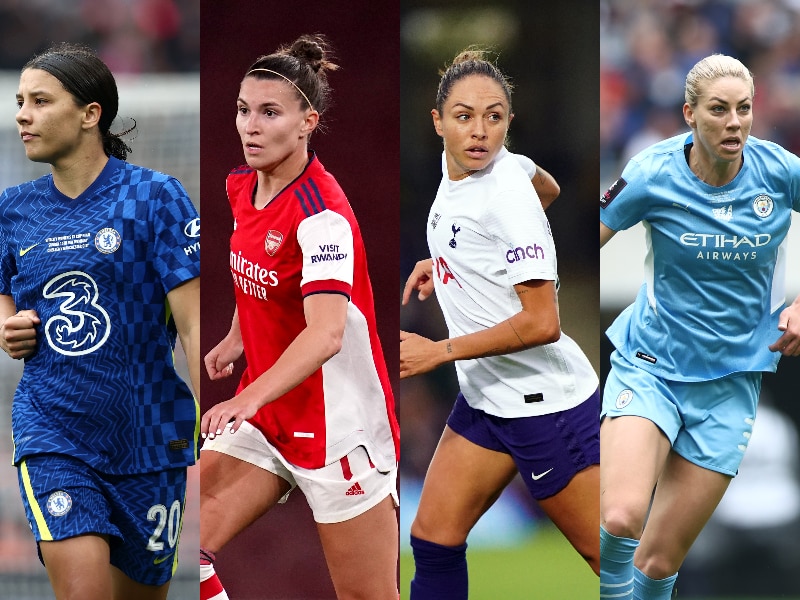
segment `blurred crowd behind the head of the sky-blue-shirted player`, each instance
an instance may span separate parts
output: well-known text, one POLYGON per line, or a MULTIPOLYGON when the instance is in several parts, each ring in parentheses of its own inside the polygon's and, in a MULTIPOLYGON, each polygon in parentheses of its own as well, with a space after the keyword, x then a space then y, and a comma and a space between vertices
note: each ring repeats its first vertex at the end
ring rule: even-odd
POLYGON ((604 184, 639 150, 688 130, 686 73, 713 53, 735 56, 755 76, 752 135, 800 152, 800 2, 601 0, 604 184))

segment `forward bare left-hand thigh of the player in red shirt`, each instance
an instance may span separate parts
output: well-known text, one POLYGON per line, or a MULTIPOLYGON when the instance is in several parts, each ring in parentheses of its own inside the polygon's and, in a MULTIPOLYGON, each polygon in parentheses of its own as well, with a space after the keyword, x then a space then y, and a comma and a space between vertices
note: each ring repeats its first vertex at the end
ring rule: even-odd
POLYGON ((204 450, 200 458, 200 546, 219 552, 291 487, 283 477, 254 464, 204 450))

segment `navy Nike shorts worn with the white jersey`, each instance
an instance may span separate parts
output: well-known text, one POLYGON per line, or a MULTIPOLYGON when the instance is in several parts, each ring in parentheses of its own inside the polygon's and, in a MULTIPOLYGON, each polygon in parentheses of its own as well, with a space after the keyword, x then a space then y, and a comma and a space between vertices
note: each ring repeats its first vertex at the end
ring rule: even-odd
POLYGON ((531 496, 544 500, 600 463, 599 410, 599 390, 569 410, 517 418, 472 408, 459 394, 447 425, 473 444, 510 455, 531 496))

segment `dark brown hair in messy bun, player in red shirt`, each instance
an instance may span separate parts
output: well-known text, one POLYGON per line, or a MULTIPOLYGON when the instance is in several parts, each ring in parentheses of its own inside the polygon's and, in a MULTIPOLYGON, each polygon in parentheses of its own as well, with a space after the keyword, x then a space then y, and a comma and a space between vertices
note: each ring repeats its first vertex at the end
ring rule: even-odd
POLYGON ((302 94, 296 94, 298 101, 303 106, 310 104, 322 115, 330 105, 331 88, 326 71, 339 68, 329 60, 331 54, 330 43, 325 36, 302 35, 289 46, 281 46, 272 54, 259 56, 247 69, 245 77, 282 79, 283 76, 302 91, 302 94), (269 69, 279 75, 257 69, 269 69))

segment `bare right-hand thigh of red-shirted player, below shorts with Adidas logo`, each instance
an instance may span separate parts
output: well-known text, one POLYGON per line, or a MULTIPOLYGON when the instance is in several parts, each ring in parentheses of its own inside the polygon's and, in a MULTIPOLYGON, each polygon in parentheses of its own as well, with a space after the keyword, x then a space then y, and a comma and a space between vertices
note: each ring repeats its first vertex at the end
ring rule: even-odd
POLYGON ((339 600, 397 600, 399 534, 391 496, 339 523, 317 523, 339 600))

